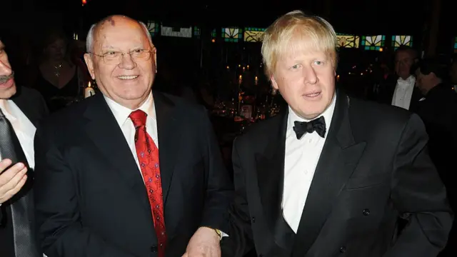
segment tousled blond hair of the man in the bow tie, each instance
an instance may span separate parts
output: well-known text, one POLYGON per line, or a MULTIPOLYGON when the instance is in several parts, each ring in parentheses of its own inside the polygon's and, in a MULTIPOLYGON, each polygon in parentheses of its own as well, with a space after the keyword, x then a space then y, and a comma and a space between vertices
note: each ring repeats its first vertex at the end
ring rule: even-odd
POLYGON ((263 35, 261 51, 266 76, 273 76, 278 59, 293 50, 323 51, 336 68, 337 47, 335 30, 328 21, 307 16, 303 11, 288 12, 276 19, 263 35))

